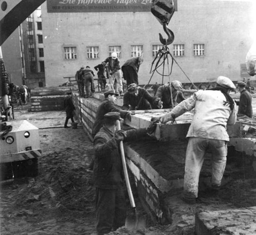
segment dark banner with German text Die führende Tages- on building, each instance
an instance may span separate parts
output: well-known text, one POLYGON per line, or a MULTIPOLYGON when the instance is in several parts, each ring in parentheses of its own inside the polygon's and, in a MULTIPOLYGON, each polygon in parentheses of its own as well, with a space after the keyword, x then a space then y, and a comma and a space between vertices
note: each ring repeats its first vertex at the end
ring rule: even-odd
MULTIPOLYGON (((47 0, 47 12, 150 12, 152 0, 47 0)), ((177 11, 177 0, 174 1, 177 11)))

